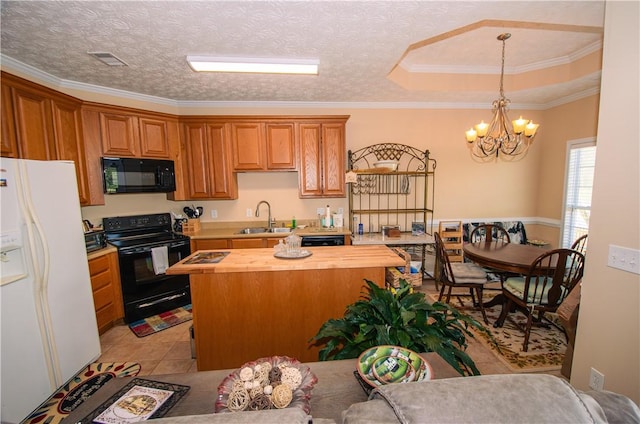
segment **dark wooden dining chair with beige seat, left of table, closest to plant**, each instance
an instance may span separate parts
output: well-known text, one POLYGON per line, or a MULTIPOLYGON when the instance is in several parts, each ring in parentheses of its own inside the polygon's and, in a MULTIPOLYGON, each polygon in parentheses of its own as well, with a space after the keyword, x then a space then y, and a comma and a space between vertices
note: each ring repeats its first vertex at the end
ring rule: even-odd
POLYGON ((438 232, 433 233, 436 240, 436 266, 437 266, 437 280, 442 287, 440 288, 440 294, 438 296, 438 302, 440 302, 444 296, 445 288, 447 288, 446 303, 449 303, 451 296, 471 296, 473 305, 480 308, 482 312, 482 318, 485 324, 489 323, 487 314, 484 311, 482 304, 482 293, 484 285, 487 284, 487 273, 484 272, 476 264, 466 262, 451 262, 449 255, 445 248, 444 242, 438 232), (468 295, 452 294, 454 288, 469 289, 468 295), (475 291, 475 293, 474 293, 475 291), (476 300, 476 295, 478 299, 476 300))

